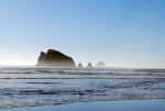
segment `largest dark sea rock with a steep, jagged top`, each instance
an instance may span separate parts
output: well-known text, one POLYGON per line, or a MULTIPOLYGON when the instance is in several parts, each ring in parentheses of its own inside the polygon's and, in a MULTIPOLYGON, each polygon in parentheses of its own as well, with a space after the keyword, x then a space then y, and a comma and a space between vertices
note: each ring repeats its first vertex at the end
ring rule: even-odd
POLYGON ((75 62, 72 57, 68 57, 54 49, 48 49, 46 54, 44 52, 41 52, 36 66, 76 67, 75 62))

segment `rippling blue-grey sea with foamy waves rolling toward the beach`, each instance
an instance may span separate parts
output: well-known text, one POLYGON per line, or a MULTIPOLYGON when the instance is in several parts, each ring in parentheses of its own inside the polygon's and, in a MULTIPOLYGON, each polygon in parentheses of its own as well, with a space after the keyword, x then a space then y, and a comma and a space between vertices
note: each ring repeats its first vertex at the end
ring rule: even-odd
POLYGON ((164 98, 164 71, 119 68, 0 68, 0 108, 164 98))

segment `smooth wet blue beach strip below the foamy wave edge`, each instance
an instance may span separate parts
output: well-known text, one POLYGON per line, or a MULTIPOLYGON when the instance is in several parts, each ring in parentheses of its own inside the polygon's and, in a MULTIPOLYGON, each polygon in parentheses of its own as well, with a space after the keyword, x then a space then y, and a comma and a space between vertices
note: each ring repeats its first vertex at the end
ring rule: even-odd
POLYGON ((1 109, 0 111, 165 111, 165 99, 77 102, 59 106, 1 109))

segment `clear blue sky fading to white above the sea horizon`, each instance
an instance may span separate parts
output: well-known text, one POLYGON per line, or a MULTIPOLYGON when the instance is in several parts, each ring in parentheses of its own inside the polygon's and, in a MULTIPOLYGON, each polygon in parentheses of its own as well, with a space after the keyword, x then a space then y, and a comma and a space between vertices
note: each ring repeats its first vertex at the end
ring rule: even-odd
POLYGON ((76 64, 165 68, 165 0, 0 0, 0 65, 57 49, 76 64))

